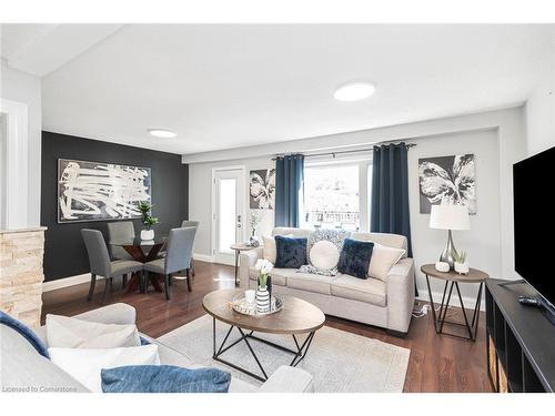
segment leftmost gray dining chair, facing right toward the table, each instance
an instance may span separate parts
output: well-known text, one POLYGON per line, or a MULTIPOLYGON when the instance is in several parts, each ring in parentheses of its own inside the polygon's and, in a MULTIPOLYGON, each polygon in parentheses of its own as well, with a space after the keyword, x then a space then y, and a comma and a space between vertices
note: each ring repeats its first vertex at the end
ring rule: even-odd
POLYGON ((87 301, 92 300, 97 276, 103 276, 105 280, 103 303, 107 303, 108 296, 112 290, 113 277, 125 276, 128 273, 134 272, 142 273, 143 264, 132 260, 115 260, 111 262, 104 236, 98 230, 83 229, 81 230, 81 235, 83 236, 87 254, 89 255, 89 264, 91 266, 91 286, 87 301))

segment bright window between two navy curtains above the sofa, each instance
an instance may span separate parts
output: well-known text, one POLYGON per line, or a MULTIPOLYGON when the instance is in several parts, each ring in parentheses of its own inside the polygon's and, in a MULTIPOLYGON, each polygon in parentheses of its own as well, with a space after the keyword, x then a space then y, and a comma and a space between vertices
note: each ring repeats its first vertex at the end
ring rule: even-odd
POLYGON ((304 226, 361 229, 359 168, 359 164, 304 168, 304 226))

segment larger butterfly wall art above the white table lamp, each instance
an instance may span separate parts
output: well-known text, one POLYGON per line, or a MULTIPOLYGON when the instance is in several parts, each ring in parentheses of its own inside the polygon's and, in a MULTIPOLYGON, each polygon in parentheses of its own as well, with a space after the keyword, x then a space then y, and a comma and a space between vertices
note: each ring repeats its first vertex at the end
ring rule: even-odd
POLYGON ((418 180, 421 214, 430 214, 431 206, 442 201, 476 213, 474 154, 420 159, 418 180))

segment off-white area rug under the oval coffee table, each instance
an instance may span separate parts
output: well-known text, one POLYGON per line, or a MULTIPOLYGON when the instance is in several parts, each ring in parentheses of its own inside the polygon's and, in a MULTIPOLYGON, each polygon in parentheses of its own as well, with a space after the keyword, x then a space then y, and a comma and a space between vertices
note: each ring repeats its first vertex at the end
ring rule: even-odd
MULTIPOLYGON (((216 347, 220 347, 228 329, 229 325, 216 321, 216 347)), ((294 348, 291 336, 260 333, 255 335, 294 348)), ((234 328, 226 345, 239 337, 240 333, 234 328)), ((304 337, 305 335, 300 335, 299 342, 302 343, 304 337)), ((159 339, 184 352, 199 365, 215 366, 231 372, 234 377, 260 385, 254 378, 212 359, 212 317, 209 315, 159 339)), ((268 375, 281 365, 289 365, 293 358, 292 354, 255 339, 250 342, 268 375)), ((297 367, 313 375, 317 393, 400 393, 403 390, 410 355, 411 351, 407 348, 324 326, 316 332, 309 354, 297 367)), ((260 374, 244 342, 228 349, 221 357, 260 374)))

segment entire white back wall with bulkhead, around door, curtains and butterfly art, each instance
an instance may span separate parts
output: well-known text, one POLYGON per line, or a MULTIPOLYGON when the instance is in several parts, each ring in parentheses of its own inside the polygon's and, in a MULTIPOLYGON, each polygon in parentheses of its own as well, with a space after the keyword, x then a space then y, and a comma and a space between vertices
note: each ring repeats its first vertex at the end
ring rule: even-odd
MULTIPOLYGON (((526 132, 523 108, 491 111, 431 120, 391 128, 336 134, 325 138, 305 139, 268 146, 266 156, 261 156, 261 146, 238 149, 221 154, 188 155, 184 160, 206 160, 190 164, 189 212, 191 219, 200 220, 196 252, 210 254, 210 180, 211 169, 216 165, 244 164, 246 170, 266 169, 271 165, 271 153, 286 153, 304 150, 322 151, 375 143, 385 140, 405 140, 418 145, 411 149, 410 204, 412 237, 415 262, 418 265, 435 262, 445 243, 445 233, 430 230, 430 216, 420 214, 417 159, 422 156, 450 155, 455 153, 476 154, 477 215, 472 219, 472 230, 455 233, 455 243, 471 253, 473 265, 483 268, 493 277, 515 280, 513 244, 513 163, 526 156, 526 132), (245 159, 223 161, 226 154, 245 159), (246 156, 255 154, 256 158, 246 156)), ((273 219, 273 212, 269 217, 273 219)), ((271 229, 271 222, 266 223, 271 229)), ((266 233, 261 229, 260 234, 266 233)), ((417 285, 423 294, 425 282, 417 273, 417 285)), ((434 286, 435 290, 438 287, 434 286)), ((470 295, 472 291, 465 292, 470 295)))

